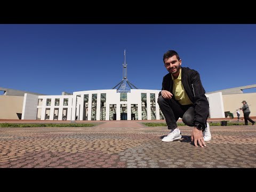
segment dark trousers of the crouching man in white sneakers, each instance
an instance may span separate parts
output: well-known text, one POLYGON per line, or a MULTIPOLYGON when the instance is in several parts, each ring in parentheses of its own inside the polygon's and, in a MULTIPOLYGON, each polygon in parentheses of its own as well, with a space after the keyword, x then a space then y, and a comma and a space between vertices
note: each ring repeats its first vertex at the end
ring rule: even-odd
POLYGON ((182 121, 188 126, 194 126, 195 108, 194 105, 180 105, 174 99, 164 99, 162 95, 157 99, 158 105, 162 110, 168 129, 177 128, 177 121, 182 121))

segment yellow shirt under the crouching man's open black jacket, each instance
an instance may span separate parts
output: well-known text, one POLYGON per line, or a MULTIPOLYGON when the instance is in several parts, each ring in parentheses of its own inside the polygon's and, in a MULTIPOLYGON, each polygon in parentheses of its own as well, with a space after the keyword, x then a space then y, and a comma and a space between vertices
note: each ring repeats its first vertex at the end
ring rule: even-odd
POLYGON ((173 81, 172 92, 174 94, 175 100, 179 101, 180 105, 193 104, 193 102, 191 102, 190 99, 188 98, 188 95, 181 83, 181 68, 180 68, 179 77, 177 79, 174 79, 172 76, 172 81, 173 81))

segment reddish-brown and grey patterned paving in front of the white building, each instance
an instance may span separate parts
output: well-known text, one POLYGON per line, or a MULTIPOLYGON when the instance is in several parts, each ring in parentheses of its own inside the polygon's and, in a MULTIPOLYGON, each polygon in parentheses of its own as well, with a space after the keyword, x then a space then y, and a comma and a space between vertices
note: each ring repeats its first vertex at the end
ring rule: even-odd
POLYGON ((162 142, 166 127, 111 121, 94 127, 0 128, 0 167, 256 167, 256 125, 211 126, 205 148, 162 142))

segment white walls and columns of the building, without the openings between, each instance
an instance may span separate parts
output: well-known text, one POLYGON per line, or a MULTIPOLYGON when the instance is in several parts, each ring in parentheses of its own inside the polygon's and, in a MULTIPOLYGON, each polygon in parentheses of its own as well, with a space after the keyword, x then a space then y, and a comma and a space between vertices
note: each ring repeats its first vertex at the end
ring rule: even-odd
MULTIPOLYGON (((141 93, 147 93, 147 118, 151 119, 150 109, 150 93, 155 93, 156 103, 156 119, 159 119, 159 105, 157 103, 158 93, 160 90, 140 90, 132 89, 131 93, 127 93, 127 101, 120 101, 120 93, 116 90, 91 90, 91 91, 79 91, 74 92, 73 95, 33 95, 25 94, 22 108, 22 119, 36 119, 37 108, 42 108, 41 120, 45 119, 45 109, 50 108, 50 120, 54 117, 54 108, 59 108, 58 120, 62 120, 63 108, 68 108, 67 120, 75 120, 76 115, 78 119, 83 119, 83 105, 84 105, 84 94, 89 94, 89 105, 88 105, 88 121, 91 120, 91 109, 92 109, 92 94, 97 94, 97 120, 100 120, 100 96, 101 93, 106 93, 106 120, 109 120, 109 105, 116 105, 116 119, 120 120, 120 105, 127 105, 127 120, 131 120, 131 105, 138 105, 138 120, 142 119, 141 115, 141 93), (81 95, 81 97, 77 97, 81 95), (76 97, 78 98, 76 103, 76 97), (60 105, 54 106, 55 99, 60 99, 60 105), (63 106, 63 99, 68 98, 68 106, 63 106), (42 106, 37 106, 38 99, 43 99, 42 106), (51 106, 46 106, 46 99, 51 99, 51 106), (79 108, 80 105, 80 108, 79 108), (77 110, 75 111, 77 106, 77 110)), ((206 97, 209 99, 210 104, 210 118, 223 118, 225 117, 222 94, 221 92, 207 94, 206 97)))

